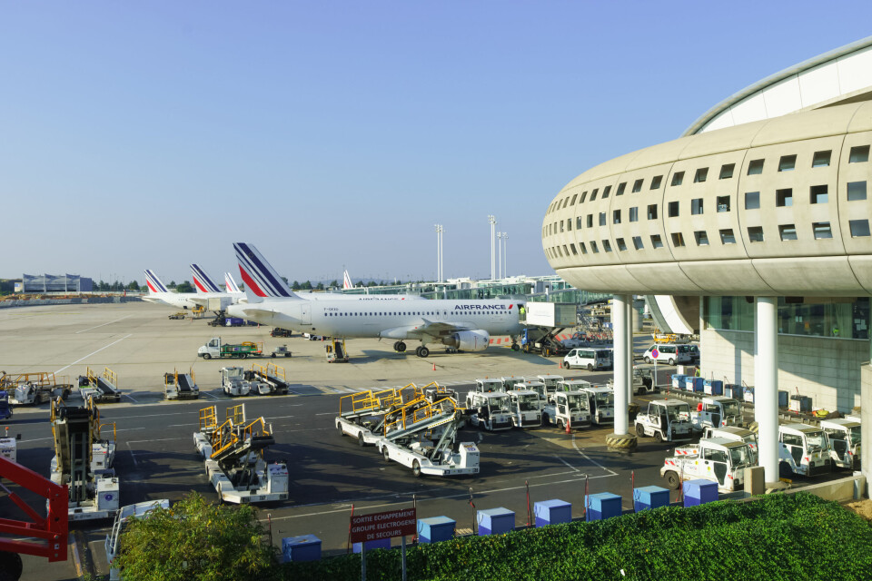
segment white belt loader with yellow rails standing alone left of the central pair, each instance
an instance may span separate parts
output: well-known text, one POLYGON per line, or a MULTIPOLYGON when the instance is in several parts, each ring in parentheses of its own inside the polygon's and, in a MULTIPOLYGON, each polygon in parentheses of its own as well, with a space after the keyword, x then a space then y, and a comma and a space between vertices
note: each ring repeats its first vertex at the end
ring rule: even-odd
POLYGON ((219 424, 215 406, 200 410, 193 445, 204 458, 206 477, 223 502, 254 504, 288 498, 288 467, 267 463, 263 452, 275 443, 263 417, 245 419, 245 405, 228 408, 219 424))

